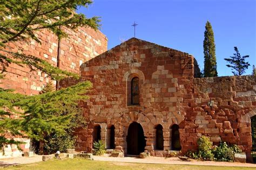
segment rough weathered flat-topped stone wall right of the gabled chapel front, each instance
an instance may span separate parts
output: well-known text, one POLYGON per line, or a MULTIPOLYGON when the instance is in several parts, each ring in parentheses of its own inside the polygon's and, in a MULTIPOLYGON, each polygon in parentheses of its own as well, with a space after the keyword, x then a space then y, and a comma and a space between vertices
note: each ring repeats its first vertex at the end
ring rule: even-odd
POLYGON ((237 144, 250 158, 250 118, 256 115, 256 76, 194 79, 184 100, 186 111, 181 132, 183 150, 196 150, 197 139, 208 136, 214 145, 237 144))

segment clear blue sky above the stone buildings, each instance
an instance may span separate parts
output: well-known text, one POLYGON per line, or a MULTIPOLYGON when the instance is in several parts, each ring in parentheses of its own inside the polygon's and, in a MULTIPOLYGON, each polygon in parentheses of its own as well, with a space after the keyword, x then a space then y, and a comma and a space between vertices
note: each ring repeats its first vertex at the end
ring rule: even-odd
POLYGON ((77 12, 87 17, 100 16, 108 49, 133 37, 192 54, 200 69, 204 67, 203 40, 205 23, 212 24, 219 76, 232 75, 224 58, 232 56, 234 46, 241 55, 250 55, 256 66, 255 0, 95 0, 89 8, 77 12))

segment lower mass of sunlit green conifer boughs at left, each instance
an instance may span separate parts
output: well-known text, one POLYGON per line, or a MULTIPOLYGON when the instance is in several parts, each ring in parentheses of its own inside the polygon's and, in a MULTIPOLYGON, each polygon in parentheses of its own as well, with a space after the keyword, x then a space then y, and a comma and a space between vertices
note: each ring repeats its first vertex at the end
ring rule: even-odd
POLYGON ((74 117, 78 117, 78 114, 83 116, 77 107, 79 101, 88 98, 84 94, 91 87, 92 84, 85 81, 36 96, 10 93, 10 90, 0 91, 1 135, 24 136, 25 133, 30 138, 40 140, 51 133, 62 135, 67 130, 71 133, 76 126, 81 125, 74 117))

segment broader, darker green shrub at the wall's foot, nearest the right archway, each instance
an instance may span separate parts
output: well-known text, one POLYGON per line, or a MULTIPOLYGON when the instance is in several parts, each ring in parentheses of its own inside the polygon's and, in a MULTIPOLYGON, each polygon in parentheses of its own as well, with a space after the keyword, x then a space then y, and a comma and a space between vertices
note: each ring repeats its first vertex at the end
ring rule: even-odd
POLYGON ((226 162, 234 161, 234 151, 232 147, 228 146, 225 142, 221 142, 220 146, 214 148, 212 152, 215 160, 226 162))

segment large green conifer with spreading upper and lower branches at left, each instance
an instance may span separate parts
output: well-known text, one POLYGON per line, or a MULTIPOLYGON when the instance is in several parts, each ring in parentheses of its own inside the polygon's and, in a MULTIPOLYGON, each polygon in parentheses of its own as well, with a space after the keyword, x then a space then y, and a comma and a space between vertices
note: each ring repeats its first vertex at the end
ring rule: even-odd
MULTIPOLYGON (((37 31, 52 31, 58 38, 68 36, 63 27, 76 29, 78 26, 90 26, 98 29, 99 18, 86 18, 74 12, 78 6, 87 7, 90 0, 3 0, 0 4, 0 63, 2 73, 10 63, 28 66, 31 70, 42 70, 52 80, 61 80, 68 76, 78 79, 77 74, 61 70, 33 55, 25 55, 22 49, 11 51, 10 45, 29 42, 37 38, 37 31)), ((17 46, 16 46, 17 47, 17 46)), ((18 47, 17 47, 18 48, 18 47)), ((3 74, 0 73, 0 79, 3 74)), ((9 139, 10 136, 28 136, 36 140, 45 135, 65 134, 70 122, 79 110, 69 111, 69 105, 77 107, 78 102, 87 98, 84 94, 91 88, 90 82, 76 86, 26 96, 14 93, 10 89, 0 88, 0 148, 6 144, 20 144, 9 139), (83 95, 82 95, 83 94, 83 95), (8 134, 8 136, 6 136, 8 134)))

